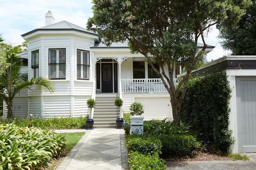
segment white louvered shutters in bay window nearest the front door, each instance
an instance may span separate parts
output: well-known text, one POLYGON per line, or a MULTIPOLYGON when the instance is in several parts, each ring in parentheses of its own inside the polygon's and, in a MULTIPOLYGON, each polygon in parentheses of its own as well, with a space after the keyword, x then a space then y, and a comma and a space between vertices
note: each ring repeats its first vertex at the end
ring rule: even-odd
POLYGON ((76 75, 80 79, 89 79, 89 52, 77 50, 76 75))

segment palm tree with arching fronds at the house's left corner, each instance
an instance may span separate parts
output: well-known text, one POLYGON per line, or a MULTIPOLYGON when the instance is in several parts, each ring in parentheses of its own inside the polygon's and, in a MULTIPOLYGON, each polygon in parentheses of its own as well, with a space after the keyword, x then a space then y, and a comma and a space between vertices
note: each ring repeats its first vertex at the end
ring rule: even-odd
POLYGON ((10 66, 0 75, 0 97, 4 99, 7 104, 7 118, 12 118, 12 101, 14 96, 22 89, 29 88, 34 85, 42 85, 50 92, 53 92, 52 82, 46 78, 31 78, 26 79, 20 73, 22 67, 22 60, 16 54, 19 52, 18 47, 12 47, 4 50, 4 57, 10 66))

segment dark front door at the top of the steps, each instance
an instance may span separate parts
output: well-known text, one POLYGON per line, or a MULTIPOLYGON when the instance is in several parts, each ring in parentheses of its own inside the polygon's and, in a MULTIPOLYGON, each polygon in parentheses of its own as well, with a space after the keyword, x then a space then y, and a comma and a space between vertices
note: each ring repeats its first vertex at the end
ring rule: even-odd
POLYGON ((113 93, 113 63, 101 63, 101 92, 113 93))

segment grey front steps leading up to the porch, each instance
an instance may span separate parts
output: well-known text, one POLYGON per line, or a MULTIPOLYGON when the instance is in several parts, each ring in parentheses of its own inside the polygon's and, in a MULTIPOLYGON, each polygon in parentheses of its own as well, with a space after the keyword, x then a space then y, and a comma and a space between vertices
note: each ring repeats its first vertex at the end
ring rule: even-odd
POLYGON ((94 128, 116 128, 116 118, 119 117, 120 109, 115 106, 118 94, 96 94, 94 108, 94 128))

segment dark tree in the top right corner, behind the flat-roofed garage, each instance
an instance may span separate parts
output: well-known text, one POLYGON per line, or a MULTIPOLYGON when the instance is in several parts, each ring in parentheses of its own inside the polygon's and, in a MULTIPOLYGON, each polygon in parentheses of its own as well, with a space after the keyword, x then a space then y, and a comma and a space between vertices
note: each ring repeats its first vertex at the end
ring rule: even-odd
POLYGON ((246 9, 235 26, 220 26, 222 47, 233 55, 256 55, 256 1, 246 9))

